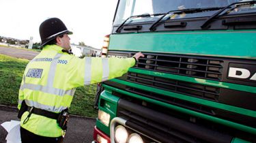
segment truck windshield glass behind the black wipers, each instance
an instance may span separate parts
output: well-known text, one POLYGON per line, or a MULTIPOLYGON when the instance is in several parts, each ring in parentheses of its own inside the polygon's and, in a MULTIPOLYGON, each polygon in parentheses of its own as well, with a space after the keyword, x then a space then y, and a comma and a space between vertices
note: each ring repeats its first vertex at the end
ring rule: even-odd
MULTIPOLYGON (((137 16, 142 14, 165 14, 171 10, 183 10, 190 8, 207 8, 207 7, 225 7, 231 3, 235 3, 241 0, 119 0, 117 7, 117 13, 113 25, 120 25, 124 20, 130 16, 137 16)), ((248 0, 242 0, 248 1, 248 0)), ((255 5, 251 7, 243 8, 242 10, 236 10, 234 12, 256 12, 255 5)), ((193 18, 201 16, 211 16, 217 10, 199 12, 193 14, 186 14, 186 16, 178 16, 179 18, 193 18)), ((233 12, 232 12, 233 13, 233 12)), ((132 22, 150 22, 158 19, 160 15, 132 18, 126 23, 132 22)))

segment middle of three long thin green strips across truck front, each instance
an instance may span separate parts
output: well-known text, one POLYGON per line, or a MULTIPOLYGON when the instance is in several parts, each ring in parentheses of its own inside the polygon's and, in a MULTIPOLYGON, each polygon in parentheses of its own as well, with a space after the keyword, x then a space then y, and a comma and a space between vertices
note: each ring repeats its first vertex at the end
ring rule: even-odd
POLYGON ((128 86, 132 86, 132 87, 137 88, 137 89, 142 89, 142 90, 145 90, 145 91, 154 92, 154 93, 158 93, 158 94, 161 94, 161 95, 167 95, 169 97, 174 97, 174 98, 177 98, 177 99, 182 99, 182 100, 194 102, 194 103, 197 103, 197 104, 210 106, 210 107, 214 107, 214 108, 218 108, 218 109, 222 109, 222 110, 227 110, 229 112, 235 112, 235 113, 238 113, 238 114, 244 114, 246 116, 252 116, 252 117, 256 118, 256 111, 253 111, 253 110, 247 110, 247 109, 244 109, 244 108, 238 108, 238 107, 235 107, 235 106, 220 104, 220 103, 214 102, 214 101, 208 101, 208 100, 205 100, 205 99, 190 97, 190 96, 182 95, 182 94, 179 94, 179 93, 164 91, 162 89, 156 89, 156 88, 153 88, 153 87, 150 87, 150 86, 135 84, 135 83, 132 83, 132 82, 126 82, 124 80, 112 79, 111 81, 118 82, 120 84, 125 84, 125 85, 128 85, 128 86))

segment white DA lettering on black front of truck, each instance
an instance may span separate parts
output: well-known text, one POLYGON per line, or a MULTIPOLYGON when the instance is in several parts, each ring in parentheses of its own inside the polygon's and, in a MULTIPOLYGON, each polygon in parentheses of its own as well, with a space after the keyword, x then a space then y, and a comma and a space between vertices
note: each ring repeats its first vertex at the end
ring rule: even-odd
POLYGON ((229 67, 229 77, 256 80, 256 73, 251 73, 248 69, 229 67))

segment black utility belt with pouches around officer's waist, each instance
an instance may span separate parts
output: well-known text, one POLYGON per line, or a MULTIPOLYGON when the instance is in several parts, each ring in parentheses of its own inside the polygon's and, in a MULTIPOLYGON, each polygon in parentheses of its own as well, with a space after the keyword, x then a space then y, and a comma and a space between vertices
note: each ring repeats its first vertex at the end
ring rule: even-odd
POLYGON ((29 118, 31 114, 38 114, 40 116, 46 116, 47 118, 52 118, 57 121, 59 127, 66 131, 68 129, 68 119, 69 119, 69 114, 68 114, 68 108, 65 110, 62 110, 60 113, 55 113, 55 112, 50 112, 47 110, 42 110, 40 108, 35 108, 35 107, 30 107, 27 106, 26 102, 23 100, 20 106, 20 110, 18 112, 18 118, 21 118, 23 116, 23 113, 28 111, 29 115, 27 115, 27 118, 23 121, 23 124, 27 123, 29 121, 29 118))

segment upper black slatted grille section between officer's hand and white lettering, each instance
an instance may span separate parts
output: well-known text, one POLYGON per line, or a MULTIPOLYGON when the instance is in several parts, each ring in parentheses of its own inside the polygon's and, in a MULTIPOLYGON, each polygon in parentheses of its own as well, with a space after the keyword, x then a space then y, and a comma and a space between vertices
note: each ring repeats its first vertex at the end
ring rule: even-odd
POLYGON ((145 54, 137 68, 193 76, 210 80, 221 80, 224 61, 204 57, 177 56, 171 54, 145 54))

